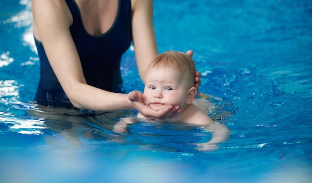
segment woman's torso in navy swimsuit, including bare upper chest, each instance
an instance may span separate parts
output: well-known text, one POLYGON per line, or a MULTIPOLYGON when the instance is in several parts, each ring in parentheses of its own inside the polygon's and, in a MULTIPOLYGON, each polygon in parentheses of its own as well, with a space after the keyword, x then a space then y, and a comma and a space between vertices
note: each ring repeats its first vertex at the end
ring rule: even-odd
MULTIPOLYGON (((120 59, 132 40, 131 0, 77 0, 77 3, 66 0, 66 3, 70 14, 64 18, 72 19, 70 33, 87 83, 104 90, 121 92, 120 59)), ((34 36, 41 64, 35 102, 46 106, 70 107, 35 29, 34 36)))

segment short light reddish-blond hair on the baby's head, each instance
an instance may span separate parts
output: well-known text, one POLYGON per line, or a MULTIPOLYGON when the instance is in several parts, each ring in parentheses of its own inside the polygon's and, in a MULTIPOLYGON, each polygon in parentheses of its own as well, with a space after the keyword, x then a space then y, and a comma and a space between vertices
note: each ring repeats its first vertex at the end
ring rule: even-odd
POLYGON ((165 51, 157 55, 151 62, 148 72, 157 69, 173 69, 182 73, 183 77, 194 86, 195 64, 191 56, 180 51, 165 51))

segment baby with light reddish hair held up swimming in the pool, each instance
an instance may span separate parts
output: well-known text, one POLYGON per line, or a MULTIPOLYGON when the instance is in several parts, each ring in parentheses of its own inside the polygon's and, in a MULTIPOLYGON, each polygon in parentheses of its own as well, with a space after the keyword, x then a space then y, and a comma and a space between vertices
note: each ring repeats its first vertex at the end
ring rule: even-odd
MULTIPOLYGON (((225 125, 214 123, 206 111, 192 103, 197 94, 195 72, 194 61, 183 52, 166 51, 157 55, 148 68, 143 101, 156 110, 163 105, 180 106, 178 114, 163 121, 200 125, 204 131, 212 133, 212 138, 207 143, 197 144, 196 149, 211 151, 217 149, 219 143, 228 140, 231 132, 225 125)), ((130 92, 128 98, 133 98, 136 92, 140 91, 130 92)), ((137 117, 145 118, 140 113, 137 117)), ((124 133, 125 127, 132 123, 135 123, 133 119, 123 119, 114 126, 113 131, 124 133)))

